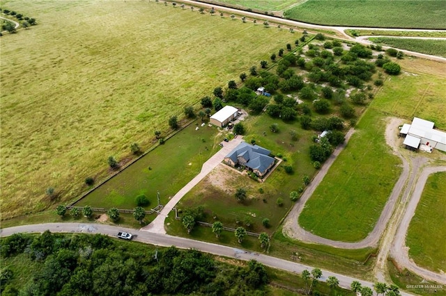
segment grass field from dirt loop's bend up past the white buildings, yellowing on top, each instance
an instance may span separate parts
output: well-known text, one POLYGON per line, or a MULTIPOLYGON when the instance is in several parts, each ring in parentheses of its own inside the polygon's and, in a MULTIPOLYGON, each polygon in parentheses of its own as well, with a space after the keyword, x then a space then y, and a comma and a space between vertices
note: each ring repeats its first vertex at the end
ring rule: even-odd
POLYGON ((445 128, 443 64, 408 58, 399 63, 403 73, 385 81, 302 211, 299 222, 308 231, 333 240, 357 241, 374 228, 401 172, 398 158, 385 145, 385 117, 410 121, 418 116, 445 128))

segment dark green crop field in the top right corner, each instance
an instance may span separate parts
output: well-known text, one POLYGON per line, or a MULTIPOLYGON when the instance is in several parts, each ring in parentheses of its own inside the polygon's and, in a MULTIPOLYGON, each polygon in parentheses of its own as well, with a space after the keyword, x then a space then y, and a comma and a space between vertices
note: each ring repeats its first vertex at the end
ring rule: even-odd
POLYGON ((286 10, 289 19, 333 26, 446 28, 443 0, 308 0, 286 10))

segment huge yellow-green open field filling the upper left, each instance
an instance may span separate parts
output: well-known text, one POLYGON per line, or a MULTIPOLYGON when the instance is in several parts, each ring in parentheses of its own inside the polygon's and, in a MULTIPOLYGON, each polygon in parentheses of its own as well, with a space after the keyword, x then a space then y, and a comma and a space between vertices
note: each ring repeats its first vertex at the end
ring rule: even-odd
POLYGON ((1 38, 3 218, 104 179, 171 115, 300 35, 155 1, 4 1, 38 26, 1 38))

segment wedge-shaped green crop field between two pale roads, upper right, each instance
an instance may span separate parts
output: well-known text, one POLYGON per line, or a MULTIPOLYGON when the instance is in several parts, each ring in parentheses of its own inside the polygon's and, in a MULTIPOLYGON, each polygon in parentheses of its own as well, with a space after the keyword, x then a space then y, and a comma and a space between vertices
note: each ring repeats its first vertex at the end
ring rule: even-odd
POLYGON ((398 49, 407 49, 421 52, 422 54, 446 57, 446 38, 445 40, 420 40, 379 37, 370 38, 370 40, 377 44, 384 44, 398 49))

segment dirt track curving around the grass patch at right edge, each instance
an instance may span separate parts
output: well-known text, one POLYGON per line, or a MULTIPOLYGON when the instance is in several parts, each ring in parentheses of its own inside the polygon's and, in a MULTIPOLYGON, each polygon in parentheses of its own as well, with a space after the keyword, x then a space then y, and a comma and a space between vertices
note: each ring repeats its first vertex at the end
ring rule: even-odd
MULTIPOLYGON (((413 215, 415 215, 415 210, 417 208, 418 202, 420 202, 427 178, 430 174, 433 174, 435 172, 446 172, 446 167, 425 167, 418 177, 415 189, 413 190, 410 200, 408 201, 406 212, 404 213, 403 219, 399 224, 397 235, 395 236, 392 243, 390 254, 399 263, 399 265, 401 265, 401 267, 407 268, 408 270, 415 272, 416 274, 422 275, 424 279, 429 279, 431 281, 436 281, 438 283, 446 285, 446 274, 431 272, 430 270, 426 270, 416 265, 413 260, 409 258, 409 249, 408 247, 406 247, 406 233, 408 231, 410 220, 412 220, 413 215)), ((440 221, 440 223, 444 223, 444 221, 440 221)), ((436 243, 441 244, 444 242, 436 243)))

